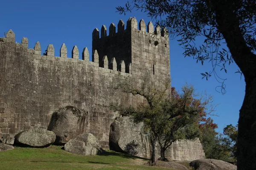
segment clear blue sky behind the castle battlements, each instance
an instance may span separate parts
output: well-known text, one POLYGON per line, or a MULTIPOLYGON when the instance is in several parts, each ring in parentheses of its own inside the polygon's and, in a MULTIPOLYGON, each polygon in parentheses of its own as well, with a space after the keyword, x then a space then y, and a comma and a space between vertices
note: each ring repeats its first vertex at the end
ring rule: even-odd
MULTIPOLYGON (((67 46, 68 57, 74 45, 77 45, 81 57, 84 47, 92 54, 92 32, 94 28, 107 28, 111 23, 117 26, 120 19, 126 21, 129 17, 136 17, 139 22, 144 19, 148 23, 151 18, 140 11, 127 13, 126 16, 116 12, 116 6, 124 6, 127 0, 2 0, 0 15, 0 37, 4 32, 12 29, 16 41, 22 37, 29 40, 29 48, 34 48, 39 41, 42 51, 48 44, 53 44, 55 56, 59 56, 62 43, 67 46)), ((202 72, 210 71, 211 65, 197 64, 192 58, 184 58, 183 49, 176 40, 170 41, 170 64, 172 86, 180 89, 186 82, 191 83, 198 92, 204 90, 214 97, 216 108, 214 122, 218 124, 218 132, 222 133, 226 125, 236 125, 239 119, 239 109, 244 99, 245 82, 240 80, 239 74, 234 74, 236 64, 227 66, 227 74, 219 72, 222 78, 227 78, 227 93, 222 95, 215 91, 218 82, 214 77, 208 81, 201 79, 202 72)))

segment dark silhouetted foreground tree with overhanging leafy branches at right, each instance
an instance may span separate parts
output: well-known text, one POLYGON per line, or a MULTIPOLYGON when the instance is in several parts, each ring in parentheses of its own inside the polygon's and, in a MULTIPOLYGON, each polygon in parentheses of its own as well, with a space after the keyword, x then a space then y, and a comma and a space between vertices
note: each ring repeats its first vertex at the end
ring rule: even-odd
POLYGON ((202 73, 206 79, 212 75, 218 79, 217 67, 227 72, 227 63, 234 61, 238 65, 246 87, 239 113, 237 167, 256 169, 256 1, 132 0, 117 10, 124 13, 134 8, 147 12, 157 24, 168 28, 171 37, 178 37, 185 57, 194 57, 202 64, 211 62, 211 70, 202 73), (200 37, 204 41, 198 45, 196 40, 200 37))

